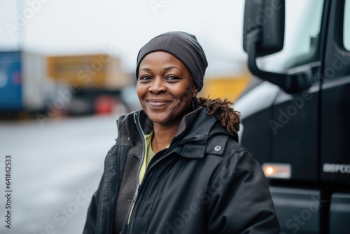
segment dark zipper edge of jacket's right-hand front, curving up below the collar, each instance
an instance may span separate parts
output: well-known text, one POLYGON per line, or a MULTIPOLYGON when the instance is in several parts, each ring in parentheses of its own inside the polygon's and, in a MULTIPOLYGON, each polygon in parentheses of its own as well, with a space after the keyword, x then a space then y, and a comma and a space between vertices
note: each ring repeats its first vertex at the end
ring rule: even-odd
POLYGON ((148 181, 150 181, 150 179, 152 178, 152 175, 153 175, 153 172, 154 170, 151 171, 151 169, 153 167, 155 167, 155 165, 157 165, 161 160, 163 160, 165 157, 169 156, 169 152, 172 151, 172 149, 174 149, 177 145, 183 143, 183 142, 188 142, 190 141, 191 139, 195 139, 195 137, 189 137, 187 139, 183 139, 179 142, 176 142, 174 145, 170 146, 169 149, 167 149, 167 151, 165 151, 165 153, 160 156, 160 158, 157 158, 155 159, 155 157, 153 157, 151 159, 151 162, 149 163, 149 166, 147 169, 146 169, 146 173, 145 173, 145 176, 144 178, 146 179, 146 181, 144 181, 141 186, 138 186, 138 188, 140 189, 140 193, 139 195, 136 196, 135 198, 135 201, 132 202, 132 204, 134 204, 135 202, 135 206, 134 206, 134 209, 132 210, 132 216, 131 216, 131 219, 130 219, 130 230, 129 230, 129 233, 132 234, 132 229, 134 228, 134 221, 135 221, 135 217, 136 217, 136 214, 137 214, 137 209, 139 208, 139 204, 141 203, 141 198, 142 198, 142 195, 144 195, 144 191, 147 187, 147 184, 148 184, 148 181), (155 161, 155 163, 153 163, 152 161, 155 161), (150 172, 151 171, 151 172, 150 172), (148 175, 149 174, 149 175, 148 175))

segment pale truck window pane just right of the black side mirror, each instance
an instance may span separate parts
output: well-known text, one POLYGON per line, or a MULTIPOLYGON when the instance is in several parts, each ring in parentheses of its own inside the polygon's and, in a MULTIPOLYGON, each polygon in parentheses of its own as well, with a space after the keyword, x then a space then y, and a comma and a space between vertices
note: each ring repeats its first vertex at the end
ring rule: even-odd
POLYGON ((265 71, 287 69, 318 60, 318 34, 321 29, 323 1, 287 0, 283 50, 258 59, 265 71))

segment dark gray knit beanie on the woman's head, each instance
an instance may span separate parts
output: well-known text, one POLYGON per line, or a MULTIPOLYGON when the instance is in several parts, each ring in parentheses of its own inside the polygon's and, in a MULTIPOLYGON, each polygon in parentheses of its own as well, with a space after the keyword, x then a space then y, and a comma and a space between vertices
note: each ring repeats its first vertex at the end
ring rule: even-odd
POLYGON ((205 69, 208 67, 204 50, 196 37, 186 32, 166 32, 148 41, 137 55, 136 76, 139 76, 139 66, 146 55, 155 51, 165 51, 174 55, 185 64, 193 78, 198 92, 202 90, 205 69))

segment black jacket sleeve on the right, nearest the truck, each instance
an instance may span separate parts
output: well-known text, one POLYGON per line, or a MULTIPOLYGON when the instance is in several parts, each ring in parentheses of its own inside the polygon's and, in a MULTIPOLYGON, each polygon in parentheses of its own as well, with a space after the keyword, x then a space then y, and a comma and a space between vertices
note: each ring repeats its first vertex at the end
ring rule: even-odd
POLYGON ((209 233, 279 233, 271 194, 258 162, 236 152, 211 183, 209 233))

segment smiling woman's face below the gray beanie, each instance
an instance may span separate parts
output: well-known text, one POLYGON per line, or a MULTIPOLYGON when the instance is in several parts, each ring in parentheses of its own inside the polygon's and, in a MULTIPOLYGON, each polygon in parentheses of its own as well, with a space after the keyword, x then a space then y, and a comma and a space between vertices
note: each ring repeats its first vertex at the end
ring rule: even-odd
POLYGON ((156 51, 139 66, 137 95, 148 118, 161 125, 179 124, 197 93, 190 71, 173 55, 156 51))

